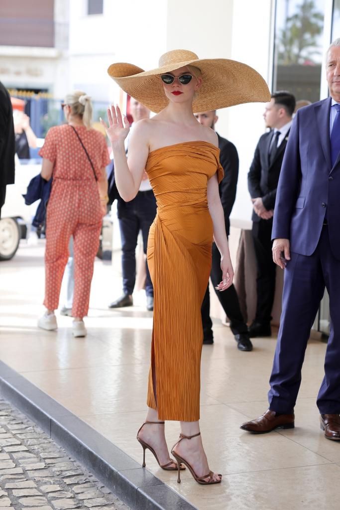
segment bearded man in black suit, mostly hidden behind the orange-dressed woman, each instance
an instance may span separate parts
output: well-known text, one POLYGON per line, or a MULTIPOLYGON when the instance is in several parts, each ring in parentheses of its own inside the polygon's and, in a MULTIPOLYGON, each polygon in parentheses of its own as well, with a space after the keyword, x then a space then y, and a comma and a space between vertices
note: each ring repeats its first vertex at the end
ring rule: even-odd
MULTIPOLYGON (((196 113, 195 117, 202 125, 211 127, 213 130, 215 129, 215 123, 218 120, 216 110, 196 113)), ((217 136, 218 146, 220 149, 220 163, 224 170, 224 177, 219 185, 219 191, 224 211, 225 231, 228 236, 230 227, 229 216, 236 197, 239 175, 239 156, 236 147, 229 142, 229 140, 222 138, 218 133, 217 136)), ((215 243, 213 243, 212 255, 212 270, 210 277, 215 288, 222 281, 221 254, 215 243)), ((252 350, 253 346, 248 336, 247 325, 240 310, 239 298, 235 287, 231 285, 224 292, 216 290, 216 294, 224 312, 230 320, 230 328, 238 343, 238 348, 243 351, 252 350)), ((203 298, 201 316, 203 324, 203 344, 212 344, 214 339, 212 330, 213 323, 210 318, 209 286, 207 287, 203 298)))

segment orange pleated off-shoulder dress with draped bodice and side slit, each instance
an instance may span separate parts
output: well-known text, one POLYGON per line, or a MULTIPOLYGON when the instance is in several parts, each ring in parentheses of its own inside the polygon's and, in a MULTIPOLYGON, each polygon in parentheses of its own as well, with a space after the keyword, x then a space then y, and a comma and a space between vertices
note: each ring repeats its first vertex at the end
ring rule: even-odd
POLYGON ((154 289, 147 405, 160 420, 199 419, 201 304, 211 270, 213 221, 207 182, 223 179, 219 149, 184 142, 149 153, 157 214, 147 261, 154 289))

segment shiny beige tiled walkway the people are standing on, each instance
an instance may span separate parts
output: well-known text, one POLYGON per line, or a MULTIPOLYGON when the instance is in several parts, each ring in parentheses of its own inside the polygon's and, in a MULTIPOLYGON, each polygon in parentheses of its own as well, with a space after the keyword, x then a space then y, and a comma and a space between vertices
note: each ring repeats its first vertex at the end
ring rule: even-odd
MULTIPOLYGON (((142 294, 133 308, 108 310, 121 291, 119 260, 115 267, 96 262, 89 334, 74 339, 67 317, 58 316, 57 333, 36 327, 43 246, 23 246, 13 261, 1 263, 0 358, 142 463, 136 432, 145 418, 152 314, 142 294)), ((215 324, 214 333, 215 344, 202 352, 201 430, 210 466, 223 482, 199 486, 187 470, 179 485, 150 452, 147 468, 199 510, 337 509, 340 448, 324 439, 315 403, 325 344, 309 342, 296 428, 254 436, 239 426, 267 408, 276 339, 255 339, 252 352, 240 352, 227 327, 215 324)), ((172 445, 178 423, 169 422, 166 435, 172 445)))

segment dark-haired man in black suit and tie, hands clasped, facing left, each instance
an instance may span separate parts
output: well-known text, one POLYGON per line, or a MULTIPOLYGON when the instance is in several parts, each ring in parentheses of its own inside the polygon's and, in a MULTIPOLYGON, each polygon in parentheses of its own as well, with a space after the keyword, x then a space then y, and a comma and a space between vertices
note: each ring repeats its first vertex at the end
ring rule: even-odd
POLYGON ((276 277, 271 241, 273 215, 276 188, 295 109, 295 97, 290 92, 275 92, 271 97, 264 113, 266 127, 271 131, 260 137, 248 173, 257 262, 257 305, 255 319, 249 326, 250 337, 271 336, 276 277))

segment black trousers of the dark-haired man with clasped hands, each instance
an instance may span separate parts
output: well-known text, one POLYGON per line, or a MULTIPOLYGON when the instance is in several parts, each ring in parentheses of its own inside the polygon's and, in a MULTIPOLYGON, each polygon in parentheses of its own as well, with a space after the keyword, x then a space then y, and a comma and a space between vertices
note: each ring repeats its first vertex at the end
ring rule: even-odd
POLYGON ((275 295, 276 265, 272 254, 273 220, 253 222, 252 235, 257 263, 255 321, 269 324, 275 295))

